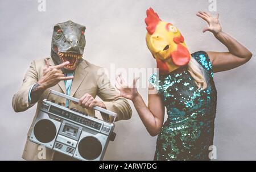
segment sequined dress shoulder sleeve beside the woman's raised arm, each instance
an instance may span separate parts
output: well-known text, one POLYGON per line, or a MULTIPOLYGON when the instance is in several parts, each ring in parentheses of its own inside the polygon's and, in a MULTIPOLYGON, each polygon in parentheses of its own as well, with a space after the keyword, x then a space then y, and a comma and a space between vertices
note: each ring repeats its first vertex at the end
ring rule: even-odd
POLYGON ((213 77, 212 62, 205 51, 198 51, 192 54, 192 57, 195 58, 197 62, 208 72, 208 74, 213 77))

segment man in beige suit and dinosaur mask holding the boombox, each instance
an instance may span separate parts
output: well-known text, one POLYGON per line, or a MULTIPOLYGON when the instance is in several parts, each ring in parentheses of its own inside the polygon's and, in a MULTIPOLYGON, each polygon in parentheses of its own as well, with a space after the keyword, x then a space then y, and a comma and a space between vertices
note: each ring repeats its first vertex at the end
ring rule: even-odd
MULTIPOLYGON (((81 58, 85 47, 84 31, 84 26, 70 20, 56 24, 52 36, 51 58, 34 60, 27 70, 22 86, 13 97, 13 108, 15 112, 22 112, 38 103, 28 137, 31 135, 42 100, 47 98, 49 90, 79 98, 79 104, 75 104, 55 95, 50 94, 48 97, 49 100, 69 108, 76 108, 90 116, 95 115, 92 107, 100 106, 117 113, 117 120, 131 118, 129 103, 124 98, 115 99, 118 92, 110 85, 108 77, 100 72, 101 68, 81 58), (96 96, 100 97, 102 102, 96 100, 96 96)), ((111 120, 104 114, 102 118, 111 120)), ((65 157, 61 158, 56 154, 53 150, 42 148, 27 138, 22 158, 65 160, 65 157), (45 150, 43 156, 42 150, 45 150)))

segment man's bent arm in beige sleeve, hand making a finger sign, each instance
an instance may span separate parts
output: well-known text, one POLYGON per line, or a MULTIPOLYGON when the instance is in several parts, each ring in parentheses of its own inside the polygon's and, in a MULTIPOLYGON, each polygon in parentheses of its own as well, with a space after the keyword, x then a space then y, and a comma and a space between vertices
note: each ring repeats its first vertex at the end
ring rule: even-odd
POLYGON ((15 112, 26 111, 32 107, 43 92, 61 80, 72 79, 73 77, 65 77, 61 72, 61 68, 69 64, 64 62, 63 64, 56 66, 49 66, 48 60, 45 59, 46 68, 43 71, 43 77, 38 78, 38 72, 36 71, 35 61, 33 61, 23 79, 22 86, 13 97, 13 109, 15 112))

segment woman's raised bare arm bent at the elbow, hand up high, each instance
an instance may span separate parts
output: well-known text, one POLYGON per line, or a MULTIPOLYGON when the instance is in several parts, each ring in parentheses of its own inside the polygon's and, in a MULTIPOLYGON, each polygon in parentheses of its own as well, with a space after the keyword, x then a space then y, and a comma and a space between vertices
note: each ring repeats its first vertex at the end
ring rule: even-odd
POLYGON ((224 44, 229 50, 229 52, 207 52, 212 61, 214 72, 222 72, 237 68, 251 59, 253 54, 246 47, 227 33, 222 32, 218 15, 216 18, 213 18, 213 16, 207 12, 201 11, 196 15, 209 24, 209 27, 204 28, 203 32, 212 32, 216 39, 224 44))

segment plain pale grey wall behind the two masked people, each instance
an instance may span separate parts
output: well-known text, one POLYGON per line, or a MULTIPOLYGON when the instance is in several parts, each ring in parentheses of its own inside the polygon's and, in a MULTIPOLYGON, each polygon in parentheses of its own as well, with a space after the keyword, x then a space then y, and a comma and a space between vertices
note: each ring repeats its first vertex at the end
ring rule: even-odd
MULTIPOLYGON (((146 48, 144 18, 153 7, 163 20, 174 23, 183 33, 191 52, 226 51, 195 15, 208 10, 208 0, 197 1, 46 1, 46 12, 38 1, 0 1, 0 160, 22 160, 26 133, 35 107, 15 113, 11 98, 22 83, 34 59, 49 56, 52 28, 72 19, 85 24, 86 60, 110 68, 155 68, 146 48)), ((217 0, 217 12, 225 32, 234 36, 254 54, 256 1, 217 0)), ((214 75, 218 107, 214 145, 217 160, 256 160, 256 60, 214 75)), ((147 102, 147 90, 139 89, 147 102)), ((133 117, 119 121, 117 137, 110 142, 105 160, 152 160, 156 137, 146 132, 133 105, 133 117)))

